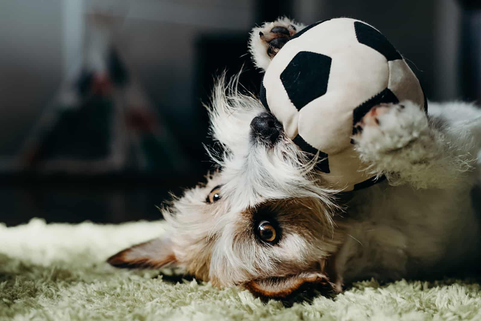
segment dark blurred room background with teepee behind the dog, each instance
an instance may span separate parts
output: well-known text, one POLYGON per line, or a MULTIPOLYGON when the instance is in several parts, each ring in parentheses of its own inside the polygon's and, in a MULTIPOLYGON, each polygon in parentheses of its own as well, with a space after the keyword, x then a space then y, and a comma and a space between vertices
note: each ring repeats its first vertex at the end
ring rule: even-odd
POLYGON ((244 66, 250 29, 365 20, 430 100, 481 98, 481 1, 15 0, 0 2, 0 222, 158 219, 203 180, 214 77, 244 66))

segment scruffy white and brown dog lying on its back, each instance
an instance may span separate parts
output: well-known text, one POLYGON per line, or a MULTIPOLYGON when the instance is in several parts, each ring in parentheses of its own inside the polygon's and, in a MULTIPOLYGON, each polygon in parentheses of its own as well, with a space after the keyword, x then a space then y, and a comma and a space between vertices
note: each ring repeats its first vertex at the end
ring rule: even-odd
MULTIPOLYGON (((266 69, 304 26, 281 18, 253 29, 249 48, 266 69)), ((352 137, 369 174, 386 180, 342 193, 259 102, 221 77, 208 107, 219 170, 162 209, 165 235, 108 259, 115 267, 182 268, 215 286, 264 299, 354 281, 473 272, 480 218, 481 112, 470 103, 381 104, 352 137)))

